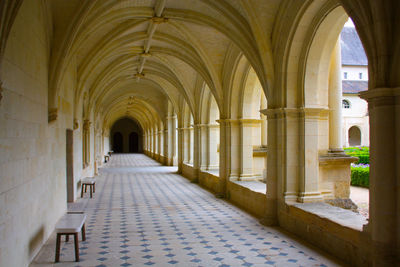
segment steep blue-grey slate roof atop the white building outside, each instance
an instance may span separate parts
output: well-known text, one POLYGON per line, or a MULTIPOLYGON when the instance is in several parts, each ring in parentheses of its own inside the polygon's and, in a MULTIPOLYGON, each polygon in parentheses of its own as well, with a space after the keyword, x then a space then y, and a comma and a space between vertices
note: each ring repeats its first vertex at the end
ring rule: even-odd
POLYGON ((342 49, 342 65, 367 66, 368 59, 357 31, 352 27, 344 27, 340 33, 342 49))

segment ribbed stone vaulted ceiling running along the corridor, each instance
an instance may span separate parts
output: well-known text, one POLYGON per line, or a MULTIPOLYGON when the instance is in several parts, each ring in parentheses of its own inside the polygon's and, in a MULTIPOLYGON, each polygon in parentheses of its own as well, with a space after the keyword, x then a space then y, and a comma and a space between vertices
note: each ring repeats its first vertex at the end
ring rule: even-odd
POLYGON ((265 36, 278 2, 52 0, 50 106, 57 102, 65 69, 74 62, 75 103, 80 105, 86 95, 89 109, 105 117, 110 112, 112 117, 127 115, 137 106, 164 118, 168 105, 178 112, 182 103, 194 112, 199 85, 208 87, 221 107, 232 49, 247 58, 266 86, 265 36))

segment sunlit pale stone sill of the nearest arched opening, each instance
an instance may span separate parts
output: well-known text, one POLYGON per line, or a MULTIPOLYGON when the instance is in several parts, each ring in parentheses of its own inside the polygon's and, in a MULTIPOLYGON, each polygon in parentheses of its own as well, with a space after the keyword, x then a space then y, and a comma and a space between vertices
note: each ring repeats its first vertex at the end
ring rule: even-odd
POLYGON ((312 213, 321 219, 327 219, 341 226, 345 226, 360 232, 363 230, 364 224, 368 223, 368 220, 360 214, 322 202, 295 203, 291 204, 291 206, 305 212, 312 213))

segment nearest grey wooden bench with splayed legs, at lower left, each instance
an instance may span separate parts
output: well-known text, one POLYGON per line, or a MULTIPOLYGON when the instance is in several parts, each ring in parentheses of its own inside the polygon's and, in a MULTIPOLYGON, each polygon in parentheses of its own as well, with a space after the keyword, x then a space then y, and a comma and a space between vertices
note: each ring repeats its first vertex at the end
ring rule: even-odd
POLYGON ((85 214, 65 214, 56 224, 56 258, 55 262, 60 261, 61 236, 65 235, 65 242, 69 241, 69 236, 74 236, 75 241, 75 261, 79 261, 79 232, 82 232, 82 241, 86 240, 85 233, 85 214))

